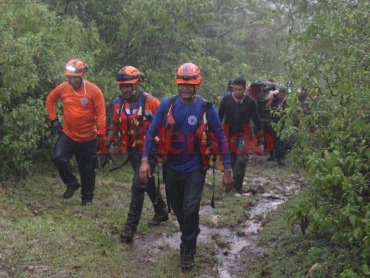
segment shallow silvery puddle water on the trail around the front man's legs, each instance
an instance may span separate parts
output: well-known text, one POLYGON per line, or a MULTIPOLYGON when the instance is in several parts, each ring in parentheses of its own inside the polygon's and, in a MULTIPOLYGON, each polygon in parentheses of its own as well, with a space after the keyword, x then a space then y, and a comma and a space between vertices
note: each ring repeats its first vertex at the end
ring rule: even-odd
MULTIPOLYGON (((266 217, 269 211, 276 209, 285 202, 286 197, 276 194, 258 194, 258 203, 251 208, 250 217, 246 221, 246 228, 243 230, 244 236, 240 236, 233 229, 228 228, 210 228, 200 225, 201 234, 199 234, 197 243, 214 243, 216 246, 215 259, 217 260, 217 270, 221 278, 236 278, 242 275, 245 269, 245 263, 248 263, 251 254, 262 254, 263 249, 257 247, 258 231, 261 228, 260 219, 266 217), (215 241, 215 235, 227 243, 226 247, 219 247, 215 241), (241 259, 243 257, 249 259, 241 259)), ((210 206, 202 206, 199 214, 215 215, 217 211, 210 206)), ((176 224, 177 222, 174 221, 176 224)), ((155 254, 169 245, 169 247, 178 250, 180 245, 180 232, 167 236, 155 231, 151 236, 145 238, 135 238, 132 245, 132 252, 145 254, 146 258, 151 258, 155 254)))

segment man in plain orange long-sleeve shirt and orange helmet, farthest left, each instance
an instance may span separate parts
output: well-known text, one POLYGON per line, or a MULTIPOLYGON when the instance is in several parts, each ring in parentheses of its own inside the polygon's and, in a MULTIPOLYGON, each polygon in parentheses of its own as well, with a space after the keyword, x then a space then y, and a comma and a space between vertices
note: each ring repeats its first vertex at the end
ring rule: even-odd
MULTIPOLYGON (((68 199, 81 189, 84 206, 91 205, 94 197, 95 168, 99 136, 105 145, 106 104, 98 86, 84 79, 87 65, 73 59, 65 65, 67 82, 58 85, 47 97, 46 108, 49 114, 51 131, 58 134, 58 140, 51 152, 60 178, 67 186, 63 197, 68 199), (63 104, 63 126, 58 121, 56 102, 63 104), (69 161, 76 157, 81 177, 81 186, 72 173, 69 161)), ((100 144, 100 143, 99 143, 100 144)))

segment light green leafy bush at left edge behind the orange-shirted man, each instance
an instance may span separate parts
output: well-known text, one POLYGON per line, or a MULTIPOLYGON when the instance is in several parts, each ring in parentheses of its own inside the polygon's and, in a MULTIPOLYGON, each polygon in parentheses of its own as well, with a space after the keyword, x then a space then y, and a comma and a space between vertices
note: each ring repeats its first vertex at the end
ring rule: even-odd
POLYGON ((0 10, 2 179, 45 157, 50 148, 45 96, 65 81, 62 67, 71 57, 90 63, 101 47, 93 25, 86 30, 75 17, 60 20, 37 1, 0 1, 0 10))

